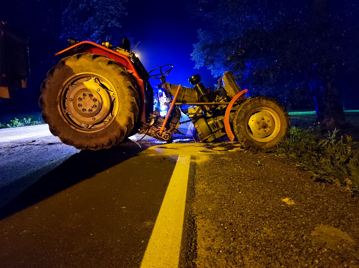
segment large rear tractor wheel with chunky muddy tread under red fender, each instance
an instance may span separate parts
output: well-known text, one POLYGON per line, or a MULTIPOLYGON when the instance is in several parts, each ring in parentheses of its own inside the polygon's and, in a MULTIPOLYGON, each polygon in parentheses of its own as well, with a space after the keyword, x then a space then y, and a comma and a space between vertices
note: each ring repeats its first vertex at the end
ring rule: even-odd
POLYGON ((39 106, 51 133, 77 149, 120 143, 139 116, 136 82, 117 62, 96 54, 62 59, 41 85, 39 106))

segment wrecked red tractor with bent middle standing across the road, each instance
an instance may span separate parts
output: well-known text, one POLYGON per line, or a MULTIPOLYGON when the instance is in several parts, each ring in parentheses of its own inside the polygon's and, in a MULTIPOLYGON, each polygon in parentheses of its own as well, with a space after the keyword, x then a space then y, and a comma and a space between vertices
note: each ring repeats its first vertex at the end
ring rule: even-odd
POLYGON ((98 150, 121 143, 136 133, 171 142, 180 124, 191 121, 201 142, 224 136, 244 148, 265 151, 289 132, 289 116, 278 101, 264 96, 247 98, 232 73, 225 72, 212 90, 200 75, 189 78, 193 87, 166 81, 172 65, 147 72, 130 42, 78 42, 56 53, 61 60, 41 85, 39 106, 43 120, 61 142, 77 149, 98 150), (168 98, 168 111, 154 109, 149 78, 168 98), (183 114, 189 120, 180 121, 183 114))

